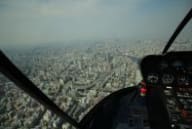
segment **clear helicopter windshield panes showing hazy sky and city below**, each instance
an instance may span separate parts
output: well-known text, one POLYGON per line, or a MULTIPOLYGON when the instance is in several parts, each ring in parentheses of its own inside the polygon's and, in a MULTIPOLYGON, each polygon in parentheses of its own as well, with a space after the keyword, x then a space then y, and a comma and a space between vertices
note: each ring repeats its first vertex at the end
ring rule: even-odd
MULTIPOLYGON (((75 120, 138 84, 139 62, 160 54, 191 0, 1 0, 0 48, 75 120)), ((192 22, 171 51, 192 50, 192 22)), ((69 129, 0 74, 0 129, 69 129)))

